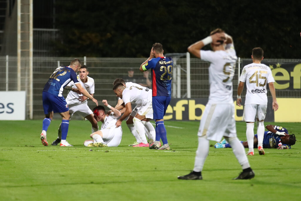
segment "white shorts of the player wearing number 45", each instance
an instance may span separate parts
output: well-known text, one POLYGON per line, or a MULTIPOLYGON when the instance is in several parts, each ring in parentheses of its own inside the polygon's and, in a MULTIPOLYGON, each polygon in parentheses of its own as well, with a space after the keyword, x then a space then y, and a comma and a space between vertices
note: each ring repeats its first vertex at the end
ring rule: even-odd
POLYGON ((242 121, 255 122, 256 118, 259 121, 265 119, 267 105, 247 104, 244 106, 244 114, 242 121))

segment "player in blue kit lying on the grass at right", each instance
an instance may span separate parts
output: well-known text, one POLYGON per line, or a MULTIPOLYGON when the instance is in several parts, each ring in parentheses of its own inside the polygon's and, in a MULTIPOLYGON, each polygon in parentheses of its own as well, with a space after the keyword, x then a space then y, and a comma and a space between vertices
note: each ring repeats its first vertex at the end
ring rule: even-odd
MULTIPOLYGON (((288 131, 284 127, 267 125, 265 127, 268 131, 264 132, 263 148, 275 148, 275 149, 290 149, 290 146, 296 143, 296 137, 294 134, 289 135, 288 131)), ((240 141, 245 148, 248 148, 248 141, 240 141)), ((257 134, 254 135, 254 147, 258 145, 257 134)), ((230 148, 230 144, 224 139, 214 145, 215 148, 230 148)))

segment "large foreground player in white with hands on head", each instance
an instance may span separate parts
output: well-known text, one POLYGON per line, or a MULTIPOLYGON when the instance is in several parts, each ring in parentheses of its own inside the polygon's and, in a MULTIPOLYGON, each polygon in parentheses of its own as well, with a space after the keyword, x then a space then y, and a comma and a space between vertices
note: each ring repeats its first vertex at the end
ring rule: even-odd
POLYGON ((203 179, 202 169, 209 153, 209 140, 219 142, 224 136, 231 144, 233 153, 243 171, 235 179, 251 179, 255 176, 250 168, 244 147, 236 135, 234 119, 233 88, 235 62, 237 60, 232 37, 221 29, 213 30, 210 36, 188 47, 188 51, 204 61, 209 61, 209 100, 198 131, 198 147, 194 169, 178 179, 203 179), (212 50, 201 50, 211 44, 212 50))

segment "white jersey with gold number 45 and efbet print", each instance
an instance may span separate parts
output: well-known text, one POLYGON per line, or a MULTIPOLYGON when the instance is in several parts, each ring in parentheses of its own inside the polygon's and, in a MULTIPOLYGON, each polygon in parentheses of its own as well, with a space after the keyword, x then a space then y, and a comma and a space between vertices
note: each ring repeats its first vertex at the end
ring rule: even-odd
POLYGON ((266 85, 275 80, 267 65, 252 63, 244 66, 239 81, 245 82, 247 86, 245 105, 268 104, 266 85))

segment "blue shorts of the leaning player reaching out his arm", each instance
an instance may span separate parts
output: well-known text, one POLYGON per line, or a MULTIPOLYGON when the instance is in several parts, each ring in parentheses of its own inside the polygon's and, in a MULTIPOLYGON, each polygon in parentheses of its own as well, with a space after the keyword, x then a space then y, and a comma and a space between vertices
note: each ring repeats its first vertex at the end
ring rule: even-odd
POLYGON ((51 111, 54 113, 62 113, 69 110, 68 104, 63 96, 54 96, 51 93, 43 91, 42 99, 45 115, 51 111))

